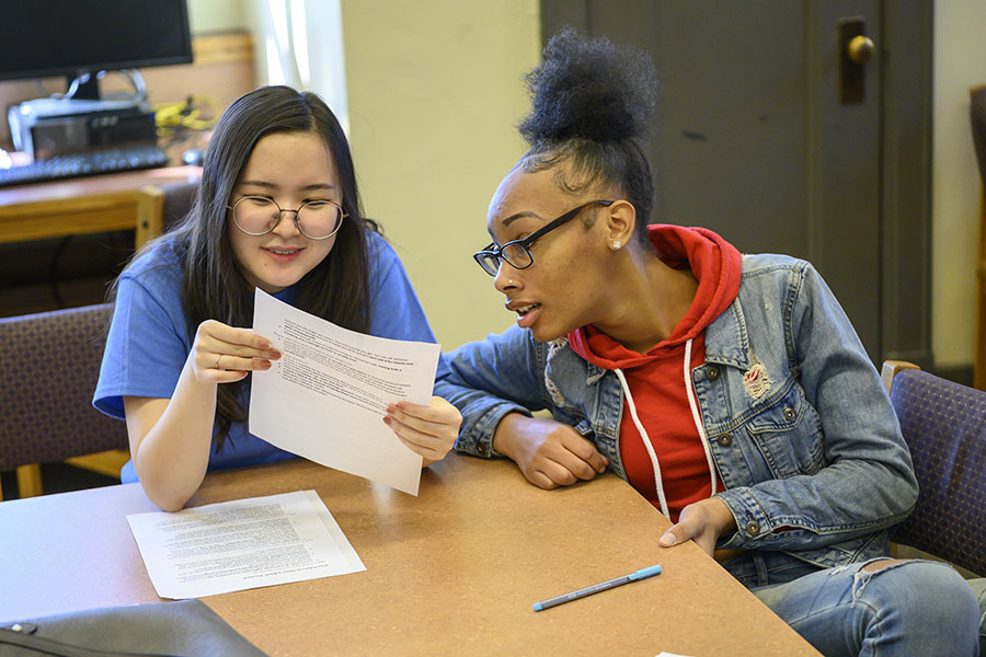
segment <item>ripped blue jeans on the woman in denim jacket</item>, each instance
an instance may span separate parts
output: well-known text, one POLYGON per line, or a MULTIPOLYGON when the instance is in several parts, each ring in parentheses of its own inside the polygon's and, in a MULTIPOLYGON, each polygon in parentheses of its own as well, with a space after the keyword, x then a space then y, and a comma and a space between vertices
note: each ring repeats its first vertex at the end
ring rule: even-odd
POLYGON ((819 570, 753 593, 826 657, 986 653, 984 580, 966 581, 951 566, 919 560, 862 569, 878 561, 883 560, 819 570))

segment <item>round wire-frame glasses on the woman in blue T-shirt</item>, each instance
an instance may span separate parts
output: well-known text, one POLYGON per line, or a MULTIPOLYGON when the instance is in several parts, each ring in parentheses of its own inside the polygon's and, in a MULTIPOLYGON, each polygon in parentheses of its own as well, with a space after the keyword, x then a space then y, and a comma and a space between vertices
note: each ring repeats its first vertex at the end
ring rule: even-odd
POLYGON ((241 196, 233 205, 226 207, 232 210, 233 223, 240 232, 254 238, 273 231, 284 214, 291 212, 298 232, 309 240, 328 240, 339 232, 343 219, 347 217, 337 203, 321 198, 306 200, 293 210, 282 208, 266 196, 241 196))

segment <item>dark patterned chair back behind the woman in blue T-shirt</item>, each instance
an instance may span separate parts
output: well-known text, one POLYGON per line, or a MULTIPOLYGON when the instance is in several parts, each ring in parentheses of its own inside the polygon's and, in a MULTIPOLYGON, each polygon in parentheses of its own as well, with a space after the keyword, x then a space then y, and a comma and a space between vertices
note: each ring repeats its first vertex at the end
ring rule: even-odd
POLYGON ((127 447, 92 407, 112 306, 0 319, 0 472, 127 447))

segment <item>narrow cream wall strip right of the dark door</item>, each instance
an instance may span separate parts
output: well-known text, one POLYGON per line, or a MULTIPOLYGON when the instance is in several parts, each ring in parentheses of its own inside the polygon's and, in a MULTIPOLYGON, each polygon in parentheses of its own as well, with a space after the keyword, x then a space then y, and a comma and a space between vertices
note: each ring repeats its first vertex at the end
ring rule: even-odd
POLYGON ((986 84, 986 1, 936 0, 931 336, 939 366, 975 351, 979 176, 968 90, 986 84))

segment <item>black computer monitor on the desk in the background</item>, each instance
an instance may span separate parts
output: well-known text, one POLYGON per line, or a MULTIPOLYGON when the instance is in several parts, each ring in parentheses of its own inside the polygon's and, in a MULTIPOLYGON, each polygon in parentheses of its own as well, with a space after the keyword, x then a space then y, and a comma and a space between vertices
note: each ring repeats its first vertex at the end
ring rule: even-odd
POLYGON ((185 0, 0 0, 0 80, 91 73, 76 99, 99 71, 192 61, 185 0))

